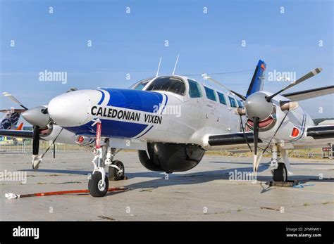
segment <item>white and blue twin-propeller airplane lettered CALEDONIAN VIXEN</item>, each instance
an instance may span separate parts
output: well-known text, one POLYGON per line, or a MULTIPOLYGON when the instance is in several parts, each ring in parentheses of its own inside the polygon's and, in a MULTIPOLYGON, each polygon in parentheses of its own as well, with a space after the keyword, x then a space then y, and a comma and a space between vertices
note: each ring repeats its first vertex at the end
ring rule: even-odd
MULTIPOLYGON (((253 170, 262 155, 271 153, 273 181, 292 174, 287 150, 327 146, 334 141, 334 126, 316 126, 298 101, 333 94, 334 86, 282 94, 318 75, 316 68, 276 93, 263 90, 266 63, 259 60, 245 95, 201 84, 183 75, 150 77, 130 89, 70 89, 48 105, 25 109, 23 117, 33 131, 0 130, 0 135, 33 139, 32 168, 37 170, 39 140, 78 144, 92 150, 94 169, 89 193, 103 197, 109 178, 124 178, 123 162, 114 160, 122 149, 138 150, 144 167, 156 172, 184 172, 202 160, 206 150, 245 149, 253 153, 253 170)), ((49 148, 47 149, 49 150, 49 148)))

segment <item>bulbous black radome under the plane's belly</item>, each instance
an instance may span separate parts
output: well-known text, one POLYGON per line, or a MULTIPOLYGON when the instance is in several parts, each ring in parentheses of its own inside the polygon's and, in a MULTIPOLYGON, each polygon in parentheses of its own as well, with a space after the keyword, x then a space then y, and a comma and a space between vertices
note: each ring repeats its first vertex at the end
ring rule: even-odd
POLYGON ((179 143, 147 143, 147 152, 139 150, 142 165, 159 172, 183 172, 202 160, 205 150, 198 145, 179 143))

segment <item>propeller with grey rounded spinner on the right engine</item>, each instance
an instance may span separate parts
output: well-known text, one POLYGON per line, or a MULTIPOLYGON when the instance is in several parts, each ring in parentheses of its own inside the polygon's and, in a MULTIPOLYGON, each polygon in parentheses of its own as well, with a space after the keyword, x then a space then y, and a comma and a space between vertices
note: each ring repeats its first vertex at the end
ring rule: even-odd
MULTIPOLYGON (((237 110, 240 115, 246 115, 249 120, 253 122, 253 132, 254 132, 254 154, 253 154, 253 170, 256 173, 259 167, 263 153, 258 155, 258 143, 259 143, 259 124, 268 120, 268 118, 274 113, 274 105, 272 99, 287 89, 304 82, 305 80, 314 77, 320 73, 322 68, 316 68, 311 70, 306 75, 300 77, 295 82, 291 82, 285 88, 280 89, 271 96, 267 96, 264 92, 257 91, 254 94, 248 96, 245 101, 245 110, 237 110)), ((237 94, 236 94, 237 95, 237 94)), ((239 96, 240 97, 240 96, 239 96)), ((242 97, 240 97, 242 98, 242 97)), ((280 101, 280 109, 282 111, 293 110, 298 107, 298 103, 295 101, 280 101)), ((279 127, 278 127, 279 128, 279 127)), ((277 132, 277 131, 276 131, 277 132)))

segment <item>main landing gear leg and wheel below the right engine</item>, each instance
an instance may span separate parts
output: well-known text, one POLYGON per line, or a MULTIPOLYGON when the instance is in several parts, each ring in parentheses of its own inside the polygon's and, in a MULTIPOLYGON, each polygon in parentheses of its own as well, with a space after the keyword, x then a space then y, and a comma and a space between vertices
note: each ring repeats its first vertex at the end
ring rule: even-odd
POLYGON ((273 181, 287 181, 288 172, 290 172, 290 174, 292 174, 292 172, 285 150, 280 148, 280 151, 278 151, 278 145, 273 144, 271 146, 271 155, 271 174, 273 175, 273 181), (278 153, 280 153, 282 158, 278 158, 278 153), (290 170, 288 171, 287 168, 290 170))

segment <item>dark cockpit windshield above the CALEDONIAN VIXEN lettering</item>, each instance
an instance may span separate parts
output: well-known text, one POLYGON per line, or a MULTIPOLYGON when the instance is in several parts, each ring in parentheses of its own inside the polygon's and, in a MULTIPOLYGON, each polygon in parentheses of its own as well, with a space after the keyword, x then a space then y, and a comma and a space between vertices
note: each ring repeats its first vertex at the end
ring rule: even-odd
POLYGON ((170 91, 184 96, 185 83, 178 77, 159 77, 149 84, 146 91, 170 91))

